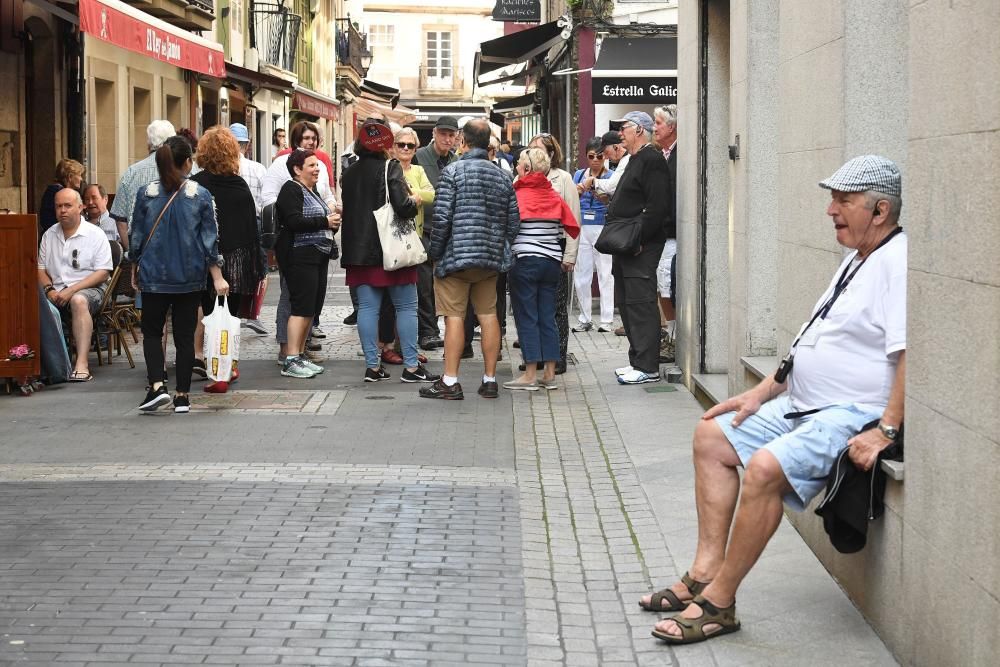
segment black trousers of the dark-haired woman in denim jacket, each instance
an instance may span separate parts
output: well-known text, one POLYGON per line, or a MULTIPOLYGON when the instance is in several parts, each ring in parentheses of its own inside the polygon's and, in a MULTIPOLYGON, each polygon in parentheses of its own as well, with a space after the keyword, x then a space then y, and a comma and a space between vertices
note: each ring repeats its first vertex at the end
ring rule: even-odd
POLYGON ((191 368, 194 366, 194 328, 198 322, 198 306, 202 292, 185 294, 142 293, 142 353, 146 358, 149 383, 163 382, 163 325, 167 310, 171 310, 174 327, 174 349, 177 350, 177 391, 191 391, 191 368))

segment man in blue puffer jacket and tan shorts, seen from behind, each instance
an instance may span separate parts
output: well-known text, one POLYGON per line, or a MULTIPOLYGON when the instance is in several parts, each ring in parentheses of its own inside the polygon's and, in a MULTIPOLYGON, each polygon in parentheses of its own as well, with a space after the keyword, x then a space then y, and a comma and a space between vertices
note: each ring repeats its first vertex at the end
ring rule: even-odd
POLYGON ((444 375, 420 390, 424 398, 464 398, 458 367, 465 348, 464 320, 470 301, 482 331, 485 368, 479 395, 496 398, 498 393, 497 274, 510 268, 510 244, 521 220, 510 178, 487 158, 489 123, 471 120, 463 134, 468 150, 441 172, 434 202, 428 254, 435 262, 437 314, 445 318, 444 375))

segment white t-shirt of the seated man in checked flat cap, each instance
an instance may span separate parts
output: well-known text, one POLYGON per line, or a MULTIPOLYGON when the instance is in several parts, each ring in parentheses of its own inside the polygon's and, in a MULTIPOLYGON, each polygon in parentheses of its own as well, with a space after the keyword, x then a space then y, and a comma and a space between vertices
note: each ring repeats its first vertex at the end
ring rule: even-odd
MULTIPOLYGON (((906 246, 899 233, 869 255, 826 319, 803 336, 788 384, 796 410, 845 403, 881 409, 889 402, 898 353, 906 349, 906 246)), ((813 313, 856 255, 841 263, 813 313)))

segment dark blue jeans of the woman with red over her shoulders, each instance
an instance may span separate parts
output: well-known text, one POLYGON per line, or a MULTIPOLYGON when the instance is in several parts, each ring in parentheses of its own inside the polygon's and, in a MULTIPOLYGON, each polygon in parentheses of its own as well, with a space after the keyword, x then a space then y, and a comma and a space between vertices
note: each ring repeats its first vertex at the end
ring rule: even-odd
POLYGON ((507 276, 517 337, 525 363, 559 361, 556 290, 559 262, 545 257, 518 257, 507 276))

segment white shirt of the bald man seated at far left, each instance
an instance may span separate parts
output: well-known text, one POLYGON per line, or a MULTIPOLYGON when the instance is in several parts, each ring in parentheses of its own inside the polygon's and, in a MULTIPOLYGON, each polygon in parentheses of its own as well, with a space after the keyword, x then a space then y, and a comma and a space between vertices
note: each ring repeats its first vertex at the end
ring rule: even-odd
POLYGON ((52 225, 42 235, 38 268, 45 269, 57 290, 89 278, 94 271, 104 269, 110 272, 112 263, 108 237, 100 227, 82 219, 69 238, 63 234, 62 225, 52 225))

